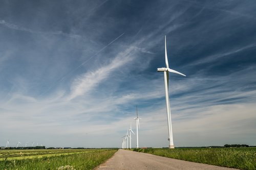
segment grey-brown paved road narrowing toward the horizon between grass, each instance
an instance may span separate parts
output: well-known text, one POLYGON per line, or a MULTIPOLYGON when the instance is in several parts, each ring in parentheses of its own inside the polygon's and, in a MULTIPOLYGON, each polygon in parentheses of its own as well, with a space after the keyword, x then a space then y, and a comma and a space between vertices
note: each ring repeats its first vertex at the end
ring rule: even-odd
POLYGON ((105 163, 99 165, 98 170, 109 169, 172 169, 172 170, 231 170, 233 168, 188 162, 178 159, 165 158, 152 154, 139 153, 127 150, 118 150, 115 155, 105 163))

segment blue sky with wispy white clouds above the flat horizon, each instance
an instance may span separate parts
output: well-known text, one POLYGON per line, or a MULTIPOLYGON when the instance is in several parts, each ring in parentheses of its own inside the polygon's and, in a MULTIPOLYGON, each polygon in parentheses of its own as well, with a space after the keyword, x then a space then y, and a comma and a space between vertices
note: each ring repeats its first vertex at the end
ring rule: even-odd
POLYGON ((168 147, 165 35, 175 146, 256 145, 255 1, 0 4, 0 146, 168 147))

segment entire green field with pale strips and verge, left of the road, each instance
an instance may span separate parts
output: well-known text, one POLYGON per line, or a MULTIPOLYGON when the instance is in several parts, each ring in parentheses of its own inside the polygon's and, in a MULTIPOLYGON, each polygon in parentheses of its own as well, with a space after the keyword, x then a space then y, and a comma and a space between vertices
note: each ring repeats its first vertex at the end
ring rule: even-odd
POLYGON ((1 150, 0 169, 92 169, 108 160, 116 151, 117 149, 1 150))

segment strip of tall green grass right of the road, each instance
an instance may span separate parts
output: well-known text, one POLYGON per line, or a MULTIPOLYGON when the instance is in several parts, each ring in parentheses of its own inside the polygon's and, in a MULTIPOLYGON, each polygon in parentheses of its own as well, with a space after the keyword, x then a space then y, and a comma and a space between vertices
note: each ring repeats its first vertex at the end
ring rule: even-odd
POLYGON ((256 169, 256 148, 135 149, 135 151, 211 165, 256 169))

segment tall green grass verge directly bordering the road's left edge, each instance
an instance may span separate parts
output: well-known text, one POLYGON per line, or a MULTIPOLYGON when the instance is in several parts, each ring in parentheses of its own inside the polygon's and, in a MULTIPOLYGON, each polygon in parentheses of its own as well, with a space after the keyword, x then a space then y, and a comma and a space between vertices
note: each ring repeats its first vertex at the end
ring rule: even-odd
POLYGON ((59 155, 23 160, 0 161, 0 169, 6 170, 41 170, 57 169, 60 166, 71 165, 78 169, 93 169, 108 160, 117 150, 97 152, 81 152, 72 155, 59 155))

